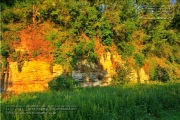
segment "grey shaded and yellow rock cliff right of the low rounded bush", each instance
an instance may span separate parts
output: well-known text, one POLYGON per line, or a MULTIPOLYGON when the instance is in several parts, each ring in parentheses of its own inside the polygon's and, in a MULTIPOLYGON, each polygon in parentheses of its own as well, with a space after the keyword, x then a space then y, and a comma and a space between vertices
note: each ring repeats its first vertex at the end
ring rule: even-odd
MULTIPOLYGON (((125 66, 125 61, 119 55, 112 55, 110 52, 102 54, 99 61, 99 65, 87 60, 79 61, 76 65, 76 70, 72 71, 72 77, 80 82, 83 87, 105 86, 110 85, 113 77, 116 75, 117 64, 129 69, 125 66)), ((139 71, 130 68, 129 71, 126 77, 130 79, 131 83, 138 82, 138 74, 140 83, 147 83, 149 81, 149 76, 143 68, 139 71)))

